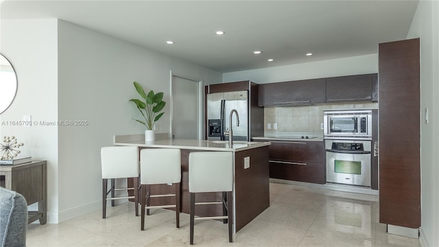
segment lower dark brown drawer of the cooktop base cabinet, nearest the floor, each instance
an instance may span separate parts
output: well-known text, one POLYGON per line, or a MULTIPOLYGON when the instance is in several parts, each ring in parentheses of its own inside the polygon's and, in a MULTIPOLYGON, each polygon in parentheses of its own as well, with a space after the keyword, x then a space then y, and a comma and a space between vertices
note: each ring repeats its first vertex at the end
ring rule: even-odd
POLYGON ((287 163, 270 161, 270 178, 324 184, 324 163, 287 163))

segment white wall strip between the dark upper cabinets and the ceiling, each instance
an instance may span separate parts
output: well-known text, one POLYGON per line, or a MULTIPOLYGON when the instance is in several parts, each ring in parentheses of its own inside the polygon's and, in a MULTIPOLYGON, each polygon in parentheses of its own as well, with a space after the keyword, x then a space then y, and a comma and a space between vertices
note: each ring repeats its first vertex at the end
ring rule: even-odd
POLYGON ((224 73, 222 81, 251 80, 263 84, 364 73, 378 73, 378 54, 224 73))

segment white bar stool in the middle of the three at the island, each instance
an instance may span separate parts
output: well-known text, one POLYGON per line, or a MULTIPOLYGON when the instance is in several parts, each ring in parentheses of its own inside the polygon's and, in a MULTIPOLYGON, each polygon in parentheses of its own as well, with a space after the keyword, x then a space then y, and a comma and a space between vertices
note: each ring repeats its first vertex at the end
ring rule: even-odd
POLYGON ((173 148, 146 148, 140 152, 141 230, 145 230, 145 209, 176 208, 176 226, 180 228, 181 152, 173 148), (150 185, 176 185, 175 194, 151 195, 150 185), (150 198, 175 196, 176 204, 150 206, 150 198))

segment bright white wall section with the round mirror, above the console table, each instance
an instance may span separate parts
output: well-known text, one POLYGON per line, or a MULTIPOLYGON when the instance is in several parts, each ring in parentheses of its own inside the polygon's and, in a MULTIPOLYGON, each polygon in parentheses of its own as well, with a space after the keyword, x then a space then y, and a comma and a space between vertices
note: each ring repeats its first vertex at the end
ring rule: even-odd
POLYGON ((58 119, 57 21, 1 21, 1 47, 17 73, 18 91, 8 110, 0 115, 0 123, 23 120, 32 115, 32 127, 0 124, 0 137, 14 135, 23 156, 34 161, 47 161, 47 204, 49 217, 58 211, 58 128, 40 126, 39 121, 58 119))

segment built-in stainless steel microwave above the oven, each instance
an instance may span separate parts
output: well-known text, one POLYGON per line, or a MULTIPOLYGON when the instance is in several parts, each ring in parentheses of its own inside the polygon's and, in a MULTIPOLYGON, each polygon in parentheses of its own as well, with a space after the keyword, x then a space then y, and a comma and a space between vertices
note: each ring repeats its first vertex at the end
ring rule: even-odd
POLYGON ((327 110, 323 126, 325 138, 372 139, 372 110, 327 110))

